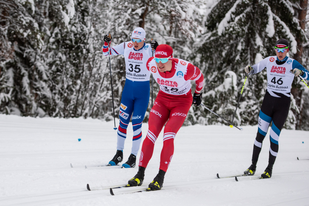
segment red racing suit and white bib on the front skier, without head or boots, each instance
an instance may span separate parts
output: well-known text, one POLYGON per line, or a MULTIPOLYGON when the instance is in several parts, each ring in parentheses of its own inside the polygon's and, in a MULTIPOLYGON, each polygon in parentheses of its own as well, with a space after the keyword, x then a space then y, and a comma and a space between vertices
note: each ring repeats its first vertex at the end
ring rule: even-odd
POLYGON ((147 61, 147 69, 159 83, 160 90, 149 115, 148 132, 143 141, 139 166, 147 167, 153 154, 155 141, 166 123, 159 168, 166 172, 174 153, 175 135, 184 123, 192 105, 190 80, 195 81, 195 92, 200 93, 204 77, 199 68, 188 61, 176 58, 172 59, 172 69, 169 72, 159 72, 154 57, 147 61))

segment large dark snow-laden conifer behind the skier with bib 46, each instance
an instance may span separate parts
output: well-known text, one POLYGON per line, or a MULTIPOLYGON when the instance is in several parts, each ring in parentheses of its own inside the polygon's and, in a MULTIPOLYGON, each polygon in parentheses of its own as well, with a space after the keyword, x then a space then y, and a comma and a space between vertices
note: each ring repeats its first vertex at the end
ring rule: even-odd
MULTIPOLYGON (((192 57, 205 74, 206 91, 222 84, 228 70, 237 74, 238 88, 234 98, 225 95, 224 99, 210 99, 206 95, 205 104, 226 119, 232 119, 229 109, 235 111, 244 67, 275 55, 274 44, 279 38, 290 42, 290 56, 296 53, 295 36, 301 33, 301 28, 293 15, 292 3, 279 0, 221 0, 210 7, 205 20, 207 31, 201 36, 201 43, 196 45, 197 54, 192 57), (231 105, 226 108, 224 104, 228 101, 231 105), (221 107, 226 109, 219 109, 221 107)), ((239 116, 235 117, 237 124, 256 124, 265 87, 266 71, 248 77, 238 108, 239 116)), ((295 107, 292 101, 291 108, 295 107)), ((285 127, 293 128, 294 125, 295 116, 290 113, 285 127)))

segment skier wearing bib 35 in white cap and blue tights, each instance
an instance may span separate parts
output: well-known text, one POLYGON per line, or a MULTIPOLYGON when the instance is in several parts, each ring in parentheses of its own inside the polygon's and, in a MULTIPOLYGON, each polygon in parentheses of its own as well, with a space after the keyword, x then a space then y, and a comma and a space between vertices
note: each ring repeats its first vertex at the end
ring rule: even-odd
POLYGON ((147 60, 153 56, 152 48, 155 49, 158 43, 156 41, 151 41, 150 44, 145 44, 146 32, 141 27, 137 27, 133 30, 131 41, 110 47, 108 50, 111 40, 112 37, 108 35, 104 36, 103 54, 105 56, 108 56, 108 54, 122 54, 125 57, 126 79, 119 110, 120 123, 117 132, 117 151, 108 165, 117 165, 123 160, 127 127, 133 113, 133 142, 131 154, 128 161, 122 164, 123 167, 128 168, 135 166, 136 155, 142 141, 142 123, 150 96, 150 72, 146 67, 146 63, 147 60))

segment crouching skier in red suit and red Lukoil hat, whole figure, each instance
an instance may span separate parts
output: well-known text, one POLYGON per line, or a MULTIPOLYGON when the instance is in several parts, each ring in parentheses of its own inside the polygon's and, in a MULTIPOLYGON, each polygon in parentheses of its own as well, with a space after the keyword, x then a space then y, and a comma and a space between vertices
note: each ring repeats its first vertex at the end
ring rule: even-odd
POLYGON ((147 61, 147 69, 160 85, 160 90, 150 111, 148 132, 142 144, 138 173, 128 181, 130 186, 142 185, 155 141, 165 124, 159 173, 149 184, 148 190, 162 188, 164 175, 173 157, 176 133, 184 123, 191 104, 199 106, 202 101, 204 77, 201 70, 188 61, 173 58, 172 53, 171 46, 161 44, 155 51, 155 57, 147 61), (190 80, 196 83, 193 97, 190 80))

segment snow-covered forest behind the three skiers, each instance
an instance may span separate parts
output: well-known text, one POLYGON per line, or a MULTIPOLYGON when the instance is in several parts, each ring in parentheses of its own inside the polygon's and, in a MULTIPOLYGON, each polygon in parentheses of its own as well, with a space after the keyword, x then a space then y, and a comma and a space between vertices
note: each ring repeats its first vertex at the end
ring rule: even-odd
MULTIPOLYGON (((244 67, 274 56, 277 39, 287 39, 288 55, 309 70, 308 16, 308 0, 0 0, 0 113, 113 120, 103 38, 111 33, 117 45, 143 27, 146 43, 169 44, 173 57, 201 69, 203 103, 232 120, 244 67)), ((111 57, 111 68, 118 117, 122 55, 111 57)), ((155 99, 159 86, 153 86, 155 99)), ((257 124, 266 86, 265 70, 248 76, 236 125, 257 124)), ((294 78, 291 94, 284 127, 309 130, 309 90, 294 78)), ((150 108, 151 97, 145 122, 150 108)), ((194 106, 184 123, 190 124, 226 123, 194 106)))

